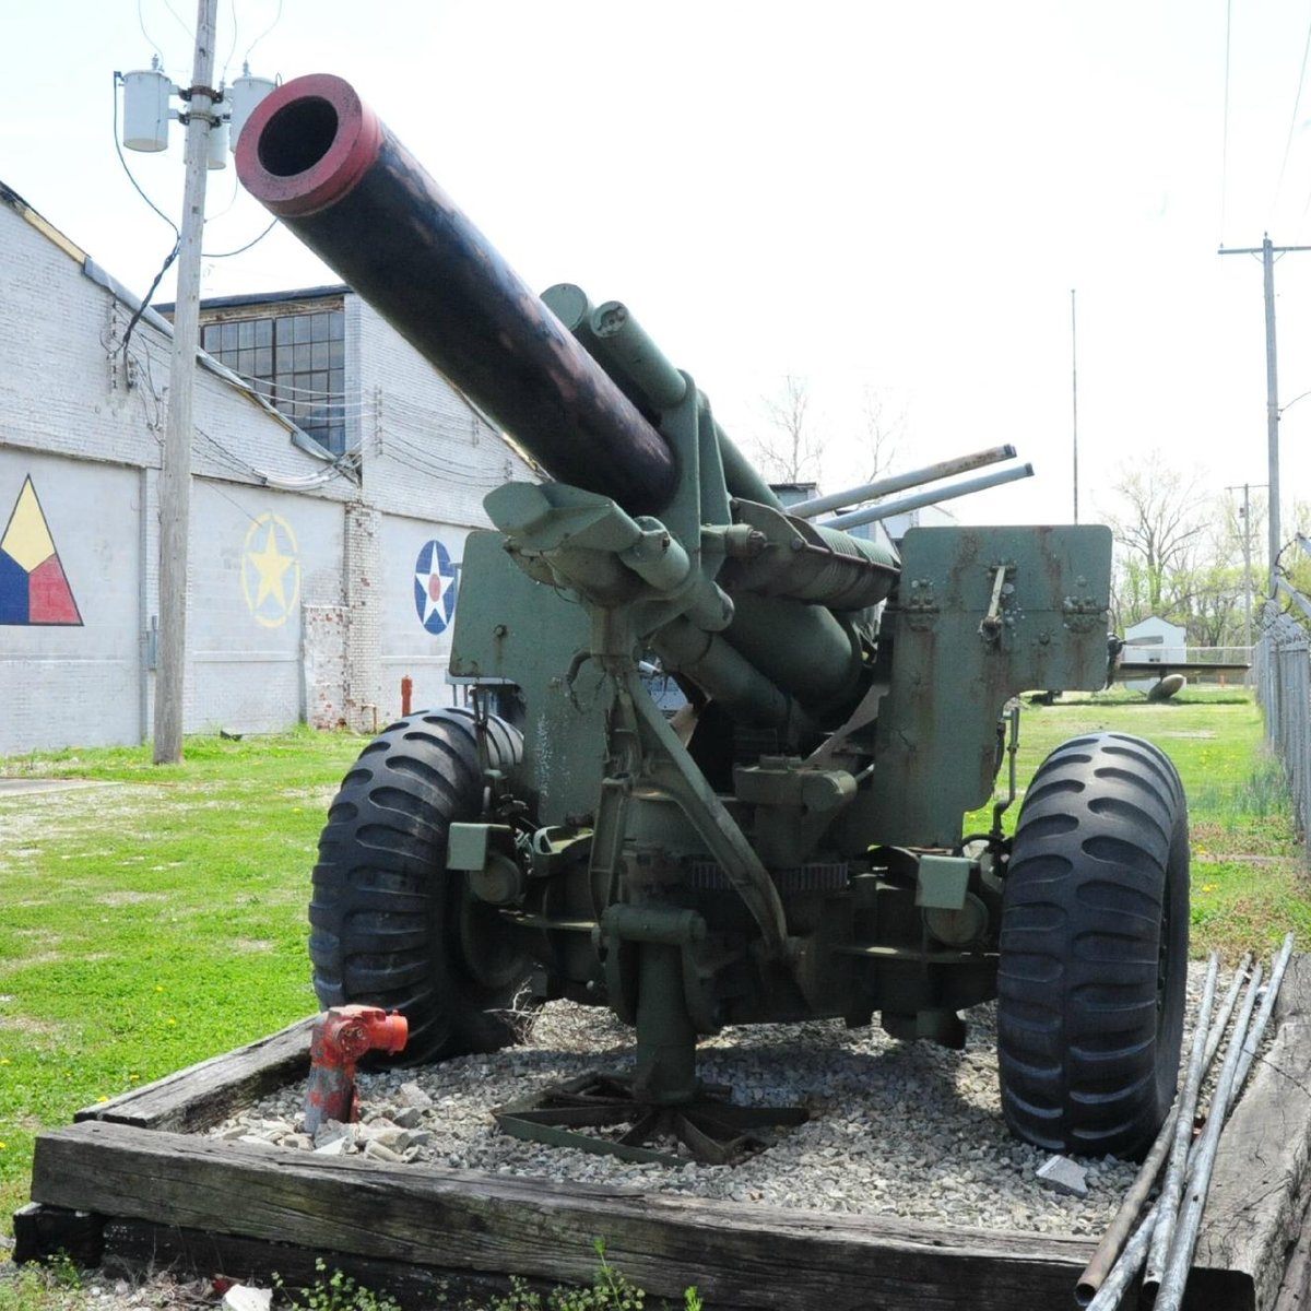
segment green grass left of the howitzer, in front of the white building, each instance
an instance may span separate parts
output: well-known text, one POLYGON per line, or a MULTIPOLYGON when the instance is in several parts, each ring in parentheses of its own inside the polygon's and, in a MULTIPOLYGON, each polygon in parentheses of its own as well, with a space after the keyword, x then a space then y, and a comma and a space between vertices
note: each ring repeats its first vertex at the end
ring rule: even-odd
POLYGON ((0 1223, 31 1145, 80 1106, 316 1008, 308 872, 362 746, 309 732, 58 753, 0 775, 115 787, 0 794, 0 1223))

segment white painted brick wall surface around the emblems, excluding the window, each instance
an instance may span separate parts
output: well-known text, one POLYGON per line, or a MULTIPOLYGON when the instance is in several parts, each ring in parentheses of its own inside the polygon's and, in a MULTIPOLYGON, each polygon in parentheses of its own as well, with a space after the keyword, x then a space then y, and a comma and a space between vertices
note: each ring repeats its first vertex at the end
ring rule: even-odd
MULTIPOLYGON (((159 614, 170 343, 138 324, 125 367, 128 317, 0 203, 0 531, 22 480, 38 477, 90 616, 84 628, 0 625, 0 754, 136 742, 151 730, 144 652, 159 614)), ((271 730, 307 709, 368 732, 399 714, 404 673, 417 705, 450 700, 448 635, 426 633, 414 608, 418 547, 439 538, 459 561, 467 530, 486 524, 485 493, 531 471, 353 295, 346 347, 362 488, 341 477, 266 485, 312 481, 325 465, 243 392, 197 370, 187 732, 271 730), (277 629, 252 624, 241 590, 245 532, 264 513, 286 520, 299 548, 299 608, 277 629)))

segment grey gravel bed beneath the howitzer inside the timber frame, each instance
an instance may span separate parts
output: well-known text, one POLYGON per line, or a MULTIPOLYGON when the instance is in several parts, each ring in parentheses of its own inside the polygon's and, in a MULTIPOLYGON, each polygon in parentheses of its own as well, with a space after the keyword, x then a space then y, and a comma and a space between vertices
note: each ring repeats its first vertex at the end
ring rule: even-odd
MULTIPOLYGON (((1190 965, 1189 1015, 1203 977, 1203 965, 1190 965)), ((1226 981, 1222 974, 1222 991, 1226 981)), ((1084 1197, 1040 1181, 1037 1169, 1050 1154, 1012 1138, 1002 1120, 995 1007, 975 1007, 966 1019, 962 1051, 898 1042, 877 1025, 850 1030, 839 1021, 754 1025, 707 1040, 699 1049, 700 1074, 729 1084, 735 1101, 802 1104, 810 1112, 805 1125, 732 1167, 638 1165, 499 1133, 493 1106, 589 1070, 631 1065, 631 1029, 607 1011, 565 1002, 534 1019, 522 1046, 361 1074, 359 1125, 329 1122, 317 1141, 300 1133, 300 1083, 210 1137, 767 1206, 1100 1235, 1135 1167, 1109 1156, 1079 1158, 1087 1169, 1084 1197)), ((1186 1034, 1184 1041, 1186 1059, 1186 1034)))

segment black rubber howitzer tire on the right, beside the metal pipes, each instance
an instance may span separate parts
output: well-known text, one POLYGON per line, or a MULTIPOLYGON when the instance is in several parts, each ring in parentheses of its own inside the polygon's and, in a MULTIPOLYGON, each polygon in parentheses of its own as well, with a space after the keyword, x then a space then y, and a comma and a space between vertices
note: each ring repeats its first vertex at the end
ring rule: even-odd
POLYGON ((1175 1097, 1188 806, 1169 758, 1097 733, 1033 777, 1002 898, 998 1065, 1012 1131, 1141 1158, 1175 1097))

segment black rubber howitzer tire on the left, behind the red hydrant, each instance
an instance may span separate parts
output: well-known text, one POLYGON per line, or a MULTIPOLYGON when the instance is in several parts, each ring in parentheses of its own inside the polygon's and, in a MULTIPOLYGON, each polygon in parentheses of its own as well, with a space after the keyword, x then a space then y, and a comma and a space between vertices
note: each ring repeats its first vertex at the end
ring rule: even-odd
MULTIPOLYGON (((309 958, 324 1008, 367 1003, 409 1021, 413 1065, 514 1041, 507 1008, 530 961, 499 914, 447 872, 452 821, 482 813, 473 716, 463 709, 393 724, 342 780, 319 839, 309 958)), ((488 729, 488 767, 509 770, 523 738, 488 729)))

